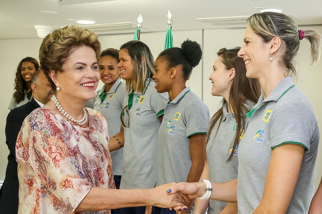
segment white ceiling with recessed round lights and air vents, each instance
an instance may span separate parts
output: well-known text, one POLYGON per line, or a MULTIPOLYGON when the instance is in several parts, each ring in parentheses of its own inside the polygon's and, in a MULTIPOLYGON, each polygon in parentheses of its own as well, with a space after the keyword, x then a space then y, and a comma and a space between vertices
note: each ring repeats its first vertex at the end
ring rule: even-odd
MULTIPOLYGON (((173 30, 222 28, 196 18, 245 16, 262 8, 282 9, 297 17, 299 25, 322 24, 321 0, 0 0, 0 39, 37 38, 35 25, 57 29, 66 25, 80 25, 74 20, 93 20, 96 24, 115 22, 137 23, 143 16, 141 31, 166 31, 167 12, 173 17, 173 30), (70 5, 68 1, 76 3, 70 5), (307 8, 307 9, 305 9, 307 8), (58 15, 43 15, 39 11, 55 11, 58 15)), ((228 27, 228 26, 226 26, 228 27)), ((234 27, 234 26, 230 26, 234 27)), ((236 26, 235 26, 236 27, 236 26)), ((109 31, 126 33, 133 30, 109 31)))

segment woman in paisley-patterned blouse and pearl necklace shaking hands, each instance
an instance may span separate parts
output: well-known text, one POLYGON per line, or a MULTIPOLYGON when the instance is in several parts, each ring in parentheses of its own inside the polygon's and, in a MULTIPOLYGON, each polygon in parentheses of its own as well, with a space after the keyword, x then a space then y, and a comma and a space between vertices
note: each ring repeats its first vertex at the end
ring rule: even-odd
POLYGON ((24 120, 16 144, 18 213, 110 213, 120 207, 183 205, 168 197, 168 185, 148 190, 115 190, 107 122, 85 108, 99 82, 98 37, 77 26, 47 35, 41 67, 56 87, 52 102, 24 120))

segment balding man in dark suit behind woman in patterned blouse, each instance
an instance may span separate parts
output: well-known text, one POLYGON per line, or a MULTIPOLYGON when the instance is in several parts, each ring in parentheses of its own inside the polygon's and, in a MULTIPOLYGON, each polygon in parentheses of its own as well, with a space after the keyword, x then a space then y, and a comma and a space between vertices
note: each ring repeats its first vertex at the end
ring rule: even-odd
POLYGON ((16 162, 16 140, 24 119, 36 108, 44 106, 53 94, 50 83, 42 70, 33 74, 31 81, 33 98, 26 104, 13 109, 7 116, 5 125, 6 144, 9 148, 5 181, 0 189, 0 214, 17 214, 19 202, 19 183, 16 162))

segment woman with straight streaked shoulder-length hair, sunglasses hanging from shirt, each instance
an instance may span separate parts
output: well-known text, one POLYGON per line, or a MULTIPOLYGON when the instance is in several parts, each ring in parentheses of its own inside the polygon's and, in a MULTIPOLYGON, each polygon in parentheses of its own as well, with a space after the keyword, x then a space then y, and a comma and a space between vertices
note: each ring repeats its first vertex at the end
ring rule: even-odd
MULTIPOLYGON (((119 60, 118 67, 128 92, 121 113, 124 150, 120 189, 153 188, 156 185, 157 133, 168 93, 159 94, 154 87, 154 59, 146 44, 138 40, 123 44, 119 60)), ((116 136, 112 140, 123 138, 116 136)), ((125 214, 144 212, 143 206, 122 209, 125 214)))

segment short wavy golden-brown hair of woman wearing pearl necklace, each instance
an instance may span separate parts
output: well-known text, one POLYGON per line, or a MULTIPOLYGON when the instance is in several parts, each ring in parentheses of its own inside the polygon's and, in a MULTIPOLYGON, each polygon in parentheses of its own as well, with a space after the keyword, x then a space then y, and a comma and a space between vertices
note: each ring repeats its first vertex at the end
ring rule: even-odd
POLYGON ((95 51, 96 58, 101 52, 98 36, 88 29, 78 26, 66 26, 48 34, 39 49, 40 67, 43 70, 52 89, 56 86, 49 76, 51 70, 63 72, 62 65, 71 53, 80 47, 88 46, 95 51))

